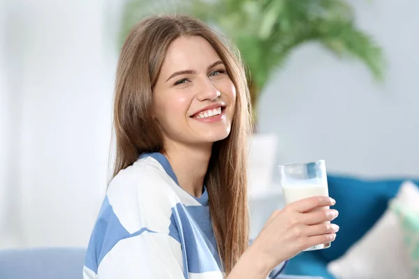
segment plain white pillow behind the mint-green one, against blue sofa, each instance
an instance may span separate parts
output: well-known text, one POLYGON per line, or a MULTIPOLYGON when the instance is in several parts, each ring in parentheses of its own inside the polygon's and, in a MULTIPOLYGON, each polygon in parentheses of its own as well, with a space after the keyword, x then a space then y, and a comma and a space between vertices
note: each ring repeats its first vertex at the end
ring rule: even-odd
MULTIPOLYGON (((419 188, 404 182, 395 200, 419 208, 419 188)), ((416 278, 396 213, 388 208, 367 234, 328 264, 328 271, 339 279, 416 278)))

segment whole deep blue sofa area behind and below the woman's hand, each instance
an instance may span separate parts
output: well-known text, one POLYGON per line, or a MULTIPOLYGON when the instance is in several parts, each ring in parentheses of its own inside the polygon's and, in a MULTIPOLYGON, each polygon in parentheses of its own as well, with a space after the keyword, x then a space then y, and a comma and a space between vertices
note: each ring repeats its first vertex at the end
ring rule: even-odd
POLYGON ((406 180, 419 185, 418 179, 410 178, 378 180, 328 175, 329 195, 336 199, 333 208, 339 211, 339 216, 333 222, 340 227, 337 238, 330 248, 301 252, 293 257, 285 273, 336 279, 328 272, 328 263, 344 255, 373 227, 406 180))

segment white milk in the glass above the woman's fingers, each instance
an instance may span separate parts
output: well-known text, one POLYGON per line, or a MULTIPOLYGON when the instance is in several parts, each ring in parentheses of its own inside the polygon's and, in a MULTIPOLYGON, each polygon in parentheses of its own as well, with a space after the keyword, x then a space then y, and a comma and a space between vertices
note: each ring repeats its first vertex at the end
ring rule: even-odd
POLYGON ((284 183, 282 185, 282 192, 286 204, 295 202, 306 197, 314 196, 329 196, 328 183, 322 181, 304 181, 301 183, 284 183))

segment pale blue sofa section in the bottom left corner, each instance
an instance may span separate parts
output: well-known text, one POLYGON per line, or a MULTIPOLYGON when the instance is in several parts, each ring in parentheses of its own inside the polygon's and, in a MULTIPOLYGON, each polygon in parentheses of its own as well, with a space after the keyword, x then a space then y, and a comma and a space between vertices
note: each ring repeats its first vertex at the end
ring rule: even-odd
POLYGON ((1 279, 82 279, 86 249, 0 250, 1 279))

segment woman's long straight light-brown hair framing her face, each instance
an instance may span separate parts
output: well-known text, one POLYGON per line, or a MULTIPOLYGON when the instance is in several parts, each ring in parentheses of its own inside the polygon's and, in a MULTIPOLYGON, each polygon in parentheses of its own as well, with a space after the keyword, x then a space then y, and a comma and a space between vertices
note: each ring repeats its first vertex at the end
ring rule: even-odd
POLYGON ((153 16, 128 34, 119 56, 115 85, 113 176, 132 165, 141 153, 163 149, 162 131, 152 117, 152 88, 170 43, 179 36, 205 38, 225 63, 237 92, 230 135, 214 143, 205 176, 216 243, 223 271, 228 275, 249 241, 246 169, 251 106, 239 52, 203 22, 181 15, 153 16))

